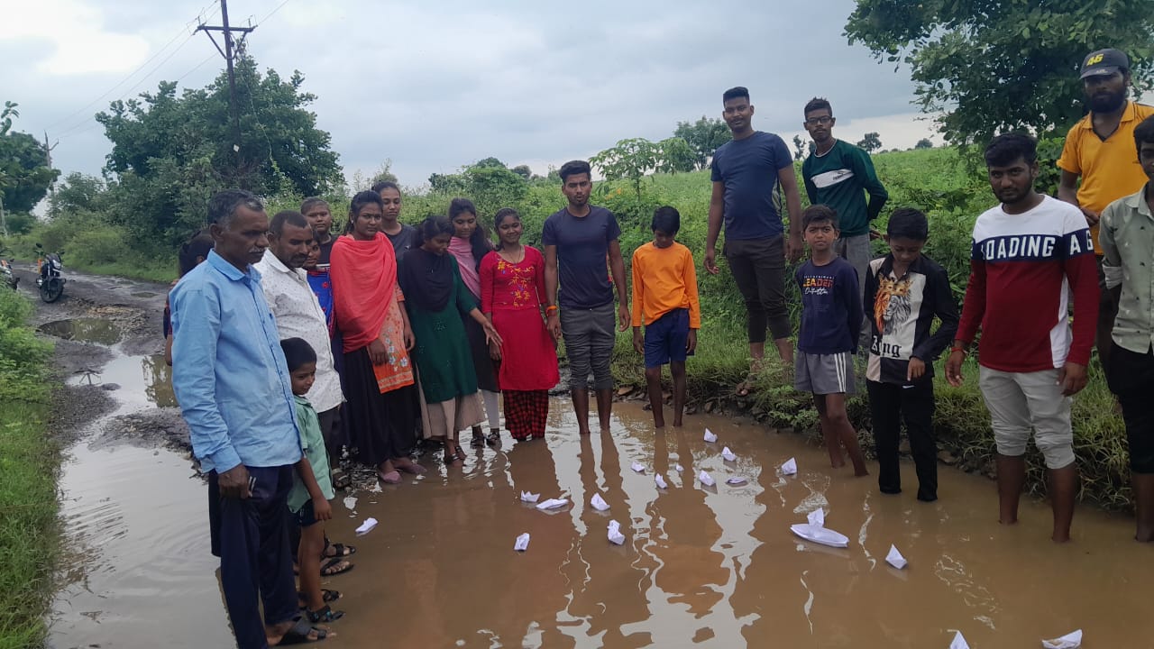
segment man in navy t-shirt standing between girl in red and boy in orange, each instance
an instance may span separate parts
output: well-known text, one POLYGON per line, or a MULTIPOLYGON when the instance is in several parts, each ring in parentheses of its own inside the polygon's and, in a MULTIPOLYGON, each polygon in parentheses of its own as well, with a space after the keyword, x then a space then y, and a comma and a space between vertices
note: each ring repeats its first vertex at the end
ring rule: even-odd
POLYGON ((613 212, 589 204, 593 182, 589 163, 572 161, 561 165, 561 192, 569 204, 549 216, 541 230, 545 245, 545 293, 549 333, 564 337, 569 357, 569 391, 577 413, 580 434, 589 434, 589 375, 593 373, 597 415, 601 432, 609 432, 613 411, 613 374, 609 360, 616 341, 613 291, 617 291, 616 330, 629 327, 629 298, 625 291, 625 264, 617 238, 621 227, 613 212), (606 273, 609 261, 613 283, 606 273), (557 279, 561 298, 557 299, 557 279))

